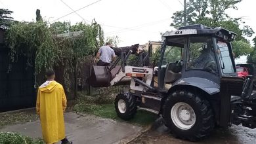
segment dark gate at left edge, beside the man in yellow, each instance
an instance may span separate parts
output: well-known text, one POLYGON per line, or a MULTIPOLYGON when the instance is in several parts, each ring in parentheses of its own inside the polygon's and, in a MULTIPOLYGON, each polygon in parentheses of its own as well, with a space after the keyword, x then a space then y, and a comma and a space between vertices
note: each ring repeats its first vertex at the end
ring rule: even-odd
POLYGON ((21 56, 9 69, 9 48, 0 44, 0 112, 34 107, 34 68, 27 67, 26 57, 21 56))

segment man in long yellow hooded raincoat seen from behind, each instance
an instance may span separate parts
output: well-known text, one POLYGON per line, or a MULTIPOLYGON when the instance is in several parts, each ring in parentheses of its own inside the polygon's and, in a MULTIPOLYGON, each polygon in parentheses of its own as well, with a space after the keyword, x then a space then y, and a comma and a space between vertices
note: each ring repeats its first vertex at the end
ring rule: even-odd
POLYGON ((72 144, 65 137, 63 113, 66 109, 66 96, 63 86, 54 81, 55 73, 47 70, 47 81, 37 92, 36 110, 40 117, 43 140, 46 143, 72 144))

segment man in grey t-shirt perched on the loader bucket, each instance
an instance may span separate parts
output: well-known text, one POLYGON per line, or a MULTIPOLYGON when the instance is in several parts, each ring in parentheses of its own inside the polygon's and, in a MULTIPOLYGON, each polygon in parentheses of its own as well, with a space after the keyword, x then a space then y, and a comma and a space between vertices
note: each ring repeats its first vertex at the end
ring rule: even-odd
POLYGON ((110 66, 110 62, 116 59, 116 54, 111 48, 111 43, 106 43, 106 46, 101 46, 96 54, 96 58, 100 59, 97 63, 98 66, 110 66))

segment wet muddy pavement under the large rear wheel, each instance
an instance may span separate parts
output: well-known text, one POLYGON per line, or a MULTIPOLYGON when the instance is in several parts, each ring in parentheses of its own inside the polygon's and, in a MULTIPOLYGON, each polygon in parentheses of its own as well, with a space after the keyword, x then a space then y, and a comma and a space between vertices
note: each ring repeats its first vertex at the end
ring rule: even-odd
MULTIPOLYGON (((183 144, 192 143, 189 141, 183 141, 175 138, 171 131, 163 126, 163 123, 156 124, 152 130, 140 135, 129 144, 183 144)), ((195 142, 194 142, 195 143, 195 142)), ((207 144, 254 144, 256 143, 256 129, 250 129, 243 127, 242 125, 232 125, 230 128, 215 128, 212 134, 205 137, 202 141, 196 143, 207 143, 207 144)))

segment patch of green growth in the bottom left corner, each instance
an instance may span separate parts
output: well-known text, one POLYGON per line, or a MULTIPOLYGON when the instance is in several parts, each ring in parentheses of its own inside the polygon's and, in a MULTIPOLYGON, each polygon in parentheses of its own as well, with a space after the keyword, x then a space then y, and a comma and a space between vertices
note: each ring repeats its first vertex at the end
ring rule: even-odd
POLYGON ((42 139, 33 139, 14 132, 0 132, 1 144, 44 144, 42 139))

